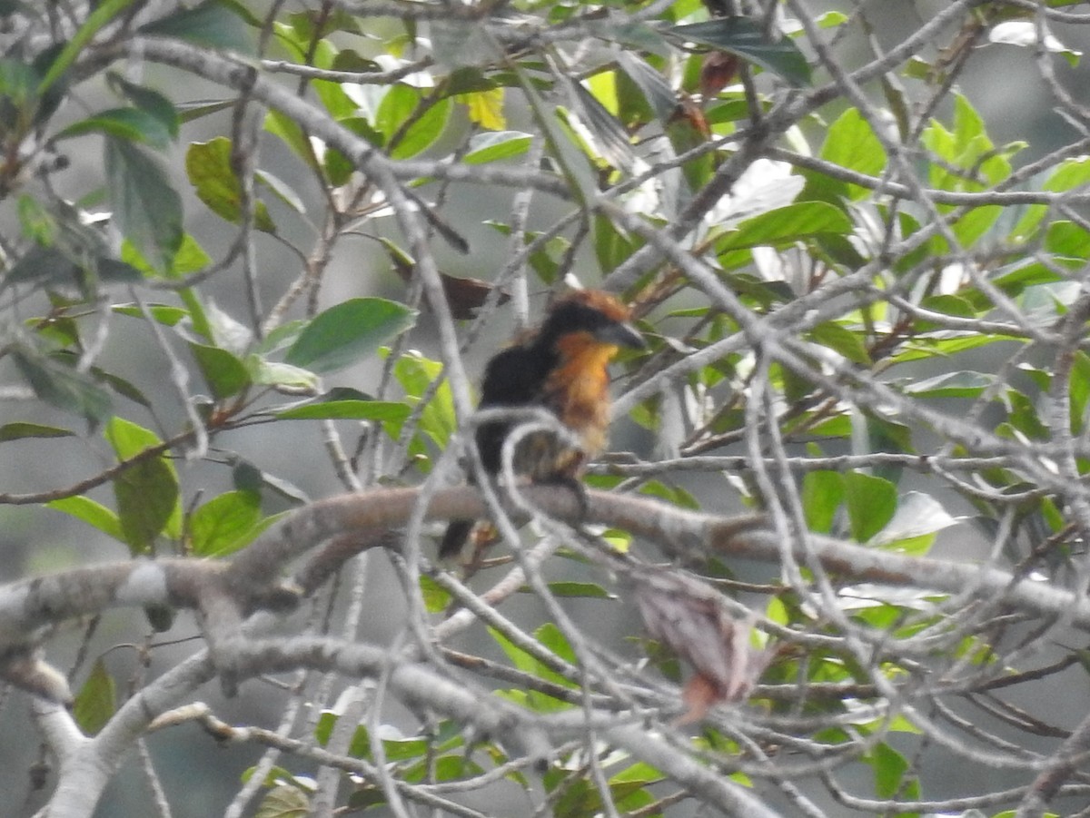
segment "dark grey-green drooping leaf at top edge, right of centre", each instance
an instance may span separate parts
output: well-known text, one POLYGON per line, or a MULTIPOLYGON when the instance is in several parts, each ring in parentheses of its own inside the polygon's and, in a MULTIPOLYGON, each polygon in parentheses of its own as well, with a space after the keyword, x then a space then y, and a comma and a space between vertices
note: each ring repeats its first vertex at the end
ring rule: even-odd
POLYGON ((736 54, 778 74, 791 85, 810 84, 810 66, 798 46, 787 37, 770 42, 761 25, 750 17, 715 17, 703 23, 670 26, 661 32, 675 41, 699 42, 736 54))

